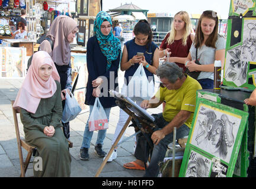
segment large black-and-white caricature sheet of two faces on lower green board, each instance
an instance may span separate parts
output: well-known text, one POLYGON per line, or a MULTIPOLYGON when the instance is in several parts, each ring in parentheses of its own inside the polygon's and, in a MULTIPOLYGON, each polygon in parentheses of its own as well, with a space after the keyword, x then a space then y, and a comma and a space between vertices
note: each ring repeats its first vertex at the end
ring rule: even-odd
POLYGON ((241 118, 201 105, 191 144, 229 162, 241 118))

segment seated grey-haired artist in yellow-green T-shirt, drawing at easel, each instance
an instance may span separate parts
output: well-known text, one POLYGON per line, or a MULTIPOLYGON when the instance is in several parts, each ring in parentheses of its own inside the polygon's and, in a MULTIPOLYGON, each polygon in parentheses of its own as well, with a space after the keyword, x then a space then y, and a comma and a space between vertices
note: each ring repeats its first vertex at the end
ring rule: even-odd
MULTIPOLYGON (((152 135, 149 134, 153 151, 144 177, 157 177, 158 162, 164 159, 167 146, 173 141, 174 127, 177 128, 176 138, 188 135, 196 108, 196 91, 201 89, 199 82, 184 74, 175 63, 162 64, 156 70, 156 75, 159 76, 162 87, 151 100, 143 100, 140 106, 145 109, 155 108, 164 101, 166 105, 163 113, 152 115, 159 129, 152 135)), ((150 151, 151 145, 140 133, 135 150, 137 159, 124 164, 124 168, 145 170, 150 151)))

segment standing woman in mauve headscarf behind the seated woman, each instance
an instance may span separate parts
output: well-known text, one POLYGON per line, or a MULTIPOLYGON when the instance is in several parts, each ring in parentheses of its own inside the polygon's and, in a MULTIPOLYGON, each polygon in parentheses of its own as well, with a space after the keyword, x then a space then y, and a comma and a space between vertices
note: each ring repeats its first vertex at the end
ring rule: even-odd
MULTIPOLYGON (((62 107, 65 106, 66 90, 68 93, 72 90, 71 81, 71 47, 70 43, 76 37, 78 32, 77 22, 66 15, 56 17, 46 37, 50 38, 53 42, 53 49, 49 41, 44 40, 40 44, 40 50, 46 51, 52 57, 56 69, 60 76, 60 86, 62 90, 62 107), (65 90, 66 89, 66 90, 65 90)), ((69 122, 62 123, 64 135, 69 139, 69 122)))

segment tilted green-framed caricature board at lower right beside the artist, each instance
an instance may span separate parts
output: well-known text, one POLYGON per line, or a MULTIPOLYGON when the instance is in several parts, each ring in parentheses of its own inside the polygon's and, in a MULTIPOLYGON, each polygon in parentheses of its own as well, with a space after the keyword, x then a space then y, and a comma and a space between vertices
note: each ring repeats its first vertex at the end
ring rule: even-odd
POLYGON ((197 99, 179 177, 232 177, 248 113, 197 99))

